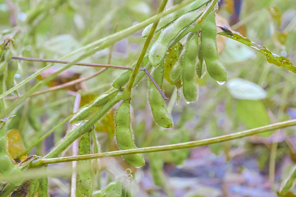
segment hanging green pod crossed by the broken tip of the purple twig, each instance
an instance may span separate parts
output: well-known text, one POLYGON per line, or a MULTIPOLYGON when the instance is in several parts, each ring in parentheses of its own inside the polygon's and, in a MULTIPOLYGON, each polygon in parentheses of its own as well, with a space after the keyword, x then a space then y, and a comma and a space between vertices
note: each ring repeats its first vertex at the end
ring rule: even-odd
MULTIPOLYGON (((151 71, 151 76, 160 88, 163 84, 163 74, 163 65, 154 67, 151 71)), ((163 97, 160 95, 160 93, 158 92, 157 88, 151 80, 149 81, 148 100, 155 122, 164 128, 173 127, 173 120, 170 113, 168 113, 163 97)))

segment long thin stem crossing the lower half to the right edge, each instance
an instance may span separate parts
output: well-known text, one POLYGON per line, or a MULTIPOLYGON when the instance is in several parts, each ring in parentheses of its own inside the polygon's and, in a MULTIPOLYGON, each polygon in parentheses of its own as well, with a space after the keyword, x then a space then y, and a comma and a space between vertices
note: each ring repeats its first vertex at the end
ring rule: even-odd
POLYGON ((164 146, 152 146, 147 148, 138 148, 138 149, 130 149, 130 150, 121 150, 121 151, 113 151, 113 152, 104 152, 104 153, 98 153, 98 154, 89 154, 89 155, 79 155, 75 157, 60 157, 60 158, 52 158, 52 159, 46 159, 42 158, 34 162, 34 166, 42 166, 46 164, 51 163, 60 163, 60 162, 70 162, 70 161, 76 161, 76 160, 85 160, 85 159, 97 159, 102 157, 114 157, 114 156, 120 156, 120 155, 127 155, 127 154, 136 154, 136 153, 149 153, 149 152, 158 152, 158 151, 168 151, 168 150, 176 150, 176 149, 186 149, 186 148, 192 148, 197 146, 204 146, 209 144, 215 144, 220 143, 223 141, 229 141, 234 139, 240 139, 246 136, 252 136, 256 135, 258 133, 263 133, 266 131, 281 129, 281 128, 287 128, 291 126, 296 126, 296 119, 279 122, 275 124, 270 124, 267 126, 262 126, 254 129, 249 129, 246 131, 238 132, 238 133, 232 133, 228 135, 218 136, 214 138, 208 138, 203 140, 197 140, 197 141, 189 141, 179 144, 170 144, 170 145, 164 145, 164 146))

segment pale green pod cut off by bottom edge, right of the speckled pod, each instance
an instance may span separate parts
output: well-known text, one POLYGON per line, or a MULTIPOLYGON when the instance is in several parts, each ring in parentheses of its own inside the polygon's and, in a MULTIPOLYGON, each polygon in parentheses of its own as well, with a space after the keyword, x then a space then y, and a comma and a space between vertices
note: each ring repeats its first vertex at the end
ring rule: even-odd
POLYGON ((109 183, 104 189, 94 192, 92 197, 120 197, 121 194, 121 182, 119 179, 116 179, 109 183))

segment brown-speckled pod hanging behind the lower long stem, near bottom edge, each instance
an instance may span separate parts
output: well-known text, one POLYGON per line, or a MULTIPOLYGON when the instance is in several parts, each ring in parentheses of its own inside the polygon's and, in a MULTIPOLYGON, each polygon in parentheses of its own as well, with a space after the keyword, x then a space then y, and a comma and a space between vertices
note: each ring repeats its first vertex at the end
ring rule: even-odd
MULTIPOLYGON (((91 154, 90 133, 87 131, 79 140, 78 155, 91 154)), ((78 167, 86 168, 86 171, 78 172, 78 188, 84 196, 91 196, 94 190, 94 177, 91 170, 91 160, 78 161, 78 167)))

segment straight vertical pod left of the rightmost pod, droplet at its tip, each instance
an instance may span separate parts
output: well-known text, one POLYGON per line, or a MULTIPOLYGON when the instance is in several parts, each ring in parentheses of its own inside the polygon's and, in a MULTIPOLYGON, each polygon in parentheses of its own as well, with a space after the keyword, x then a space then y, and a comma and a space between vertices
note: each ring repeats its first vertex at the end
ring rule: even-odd
POLYGON ((183 95, 189 102, 197 100, 197 86, 194 78, 197 51, 198 35, 194 34, 185 47, 182 71, 183 95))

